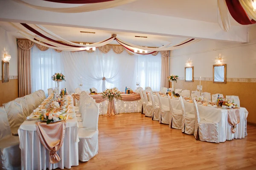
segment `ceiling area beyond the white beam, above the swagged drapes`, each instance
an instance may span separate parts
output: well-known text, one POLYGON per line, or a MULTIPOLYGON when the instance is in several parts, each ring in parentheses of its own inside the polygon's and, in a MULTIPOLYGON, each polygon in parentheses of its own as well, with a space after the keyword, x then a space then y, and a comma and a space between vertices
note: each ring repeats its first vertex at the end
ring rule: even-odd
MULTIPOLYGON (((22 28, 22 26, 19 23, 16 23, 16 25, 19 25, 22 28)), ((24 38, 22 35, 20 35, 20 33, 18 33, 17 29, 15 29, 8 22, 0 22, 0 26, 6 31, 10 32, 16 38, 24 38)), ((85 43, 87 42, 94 43, 94 42, 105 40, 111 37, 112 34, 116 34, 117 37, 129 43, 134 43, 142 46, 160 47, 168 43, 173 43, 173 45, 175 45, 175 43, 179 43, 186 39, 184 37, 183 38, 167 37, 167 36, 160 36, 160 35, 146 35, 146 34, 137 34, 137 33, 130 33, 130 32, 115 32, 115 31, 106 31, 106 30, 65 27, 65 26, 49 26, 49 25, 42 25, 42 26, 49 29, 51 32, 55 33, 56 35, 73 42, 82 41, 85 43), (80 31, 95 32, 95 34, 80 33, 80 31), (144 36, 148 38, 135 38, 135 35, 144 36)), ((32 33, 32 32, 29 32, 29 33, 32 33)), ((111 44, 118 44, 118 43, 116 41, 112 41, 111 44)))

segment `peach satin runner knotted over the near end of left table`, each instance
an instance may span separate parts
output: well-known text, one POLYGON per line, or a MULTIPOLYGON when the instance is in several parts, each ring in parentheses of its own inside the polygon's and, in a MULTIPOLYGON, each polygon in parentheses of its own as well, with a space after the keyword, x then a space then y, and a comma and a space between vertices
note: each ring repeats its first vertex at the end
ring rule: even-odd
POLYGON ((41 144, 50 151, 50 163, 58 163, 61 158, 58 156, 57 151, 63 144, 66 121, 58 121, 50 124, 46 124, 46 122, 37 122, 36 130, 41 144))

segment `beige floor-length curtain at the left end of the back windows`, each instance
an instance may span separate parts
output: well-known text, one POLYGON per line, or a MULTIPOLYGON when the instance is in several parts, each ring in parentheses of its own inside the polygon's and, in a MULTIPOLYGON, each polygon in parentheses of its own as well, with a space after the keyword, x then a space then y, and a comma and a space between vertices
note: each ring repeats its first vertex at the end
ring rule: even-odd
POLYGON ((18 92, 19 97, 31 93, 30 52, 34 42, 17 40, 18 48, 18 92))

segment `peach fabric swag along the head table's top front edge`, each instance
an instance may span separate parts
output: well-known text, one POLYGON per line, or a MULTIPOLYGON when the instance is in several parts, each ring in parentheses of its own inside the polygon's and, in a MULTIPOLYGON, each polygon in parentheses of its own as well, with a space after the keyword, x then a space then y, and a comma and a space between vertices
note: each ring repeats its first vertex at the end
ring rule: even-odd
MULTIPOLYGON (((79 100, 80 95, 78 94, 73 94, 73 99, 74 99, 74 106, 76 104, 75 99, 79 100)), ((120 100, 123 101, 137 101, 140 100, 140 94, 121 94, 122 98, 120 100)), ((101 103, 103 101, 108 100, 108 98, 103 98, 103 95, 90 95, 96 103, 101 103)))

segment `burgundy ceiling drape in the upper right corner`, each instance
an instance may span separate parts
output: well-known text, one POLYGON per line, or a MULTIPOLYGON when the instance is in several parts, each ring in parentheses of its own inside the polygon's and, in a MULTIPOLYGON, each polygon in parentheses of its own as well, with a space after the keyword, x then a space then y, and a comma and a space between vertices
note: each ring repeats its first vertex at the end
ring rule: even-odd
POLYGON ((255 20, 250 20, 239 0, 226 0, 226 3, 231 16, 236 20, 236 22, 240 23, 241 25, 250 25, 256 23, 255 20))

